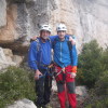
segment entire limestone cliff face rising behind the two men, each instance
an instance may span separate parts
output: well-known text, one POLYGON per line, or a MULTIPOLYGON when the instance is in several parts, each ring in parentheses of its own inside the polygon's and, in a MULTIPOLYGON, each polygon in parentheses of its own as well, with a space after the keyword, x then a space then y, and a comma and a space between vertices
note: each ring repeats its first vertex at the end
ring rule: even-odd
POLYGON ((50 24, 56 35, 56 25, 64 23, 67 32, 76 35, 79 51, 92 39, 108 46, 108 0, 6 1, 8 6, 5 0, 0 1, 0 27, 6 24, 0 29, 0 43, 17 41, 17 45, 27 46, 30 37, 39 36, 40 25, 50 24))

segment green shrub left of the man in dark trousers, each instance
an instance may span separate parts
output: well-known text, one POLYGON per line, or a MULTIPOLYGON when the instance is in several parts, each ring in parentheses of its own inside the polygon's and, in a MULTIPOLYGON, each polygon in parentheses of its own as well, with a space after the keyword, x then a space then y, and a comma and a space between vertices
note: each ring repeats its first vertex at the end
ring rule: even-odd
POLYGON ((21 98, 35 99, 35 82, 31 72, 10 67, 0 73, 0 108, 21 98))

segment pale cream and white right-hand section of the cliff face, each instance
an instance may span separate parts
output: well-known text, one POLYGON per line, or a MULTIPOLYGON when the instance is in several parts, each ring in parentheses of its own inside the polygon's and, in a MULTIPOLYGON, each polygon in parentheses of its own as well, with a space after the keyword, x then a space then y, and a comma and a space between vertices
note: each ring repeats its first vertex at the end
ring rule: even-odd
POLYGON ((79 50, 92 39, 103 48, 108 46, 107 0, 59 0, 56 5, 50 18, 53 29, 56 23, 65 23, 67 32, 76 35, 79 50))

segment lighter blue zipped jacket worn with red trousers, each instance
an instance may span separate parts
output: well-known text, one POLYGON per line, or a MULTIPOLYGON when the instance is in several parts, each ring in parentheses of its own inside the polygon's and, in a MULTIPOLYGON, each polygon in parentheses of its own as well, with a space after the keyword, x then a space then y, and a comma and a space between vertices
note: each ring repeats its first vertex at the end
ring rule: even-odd
POLYGON ((71 51, 69 51, 67 44, 68 40, 69 39, 65 37, 64 41, 59 41, 59 38, 57 36, 56 43, 54 46, 54 62, 62 68, 68 65, 76 67, 78 63, 76 45, 72 45, 71 51))

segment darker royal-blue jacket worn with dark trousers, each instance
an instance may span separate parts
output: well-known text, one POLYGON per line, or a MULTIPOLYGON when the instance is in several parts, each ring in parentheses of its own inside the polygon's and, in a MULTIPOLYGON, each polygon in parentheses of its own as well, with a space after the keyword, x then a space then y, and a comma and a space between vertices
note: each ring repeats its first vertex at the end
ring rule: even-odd
POLYGON ((50 40, 46 40, 45 43, 43 43, 40 38, 38 40, 39 43, 37 41, 31 42, 28 51, 28 65, 35 70, 38 68, 44 68, 43 65, 50 65, 52 60, 52 44, 50 40))

